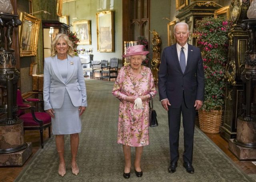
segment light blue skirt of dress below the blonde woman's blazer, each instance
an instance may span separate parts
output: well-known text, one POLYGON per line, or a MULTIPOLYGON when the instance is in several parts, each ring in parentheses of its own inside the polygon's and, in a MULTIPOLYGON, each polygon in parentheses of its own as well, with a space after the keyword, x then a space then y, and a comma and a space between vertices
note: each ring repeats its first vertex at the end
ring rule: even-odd
POLYGON ((52 134, 66 135, 81 132, 81 120, 78 111, 79 107, 74 107, 68 92, 65 89, 64 102, 60 109, 54 109, 52 118, 52 134))

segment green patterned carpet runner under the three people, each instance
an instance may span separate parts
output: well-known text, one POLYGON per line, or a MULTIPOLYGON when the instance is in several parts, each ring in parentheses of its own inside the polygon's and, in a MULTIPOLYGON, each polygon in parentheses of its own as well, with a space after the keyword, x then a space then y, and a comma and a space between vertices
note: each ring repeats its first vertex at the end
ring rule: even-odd
MULTIPOLYGON (((180 160, 174 174, 169 166, 167 113, 159 96, 154 98, 159 126, 150 128, 150 145, 142 155, 142 178, 137 178, 134 167, 131 178, 122 177, 124 157, 122 145, 116 143, 118 105, 111 91, 113 82, 86 79, 88 108, 82 116, 82 133, 78 150, 80 173, 74 176, 70 167, 70 138, 65 137, 66 175, 58 175, 58 154, 54 136, 40 149, 20 173, 15 182, 253 182, 218 146, 196 127, 194 138, 194 174, 182 166, 183 140, 180 131, 180 160)), ((134 161, 132 148, 132 161, 134 161)), ((255 176, 254 176, 255 177, 255 176)))

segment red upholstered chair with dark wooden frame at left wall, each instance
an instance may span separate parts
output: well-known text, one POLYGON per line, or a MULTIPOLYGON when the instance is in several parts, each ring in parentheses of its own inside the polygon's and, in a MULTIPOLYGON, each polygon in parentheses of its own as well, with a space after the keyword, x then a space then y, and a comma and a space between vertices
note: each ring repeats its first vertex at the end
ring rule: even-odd
POLYGON ((20 120, 23 120, 24 133, 25 133, 25 130, 40 130, 41 147, 44 148, 43 129, 48 128, 49 138, 50 138, 52 119, 48 113, 35 112, 34 106, 24 104, 23 101, 36 102, 36 99, 23 100, 21 92, 18 89, 17 90, 17 105, 18 105, 17 116, 19 117, 20 120), (29 109, 30 112, 25 113, 25 109, 29 109))

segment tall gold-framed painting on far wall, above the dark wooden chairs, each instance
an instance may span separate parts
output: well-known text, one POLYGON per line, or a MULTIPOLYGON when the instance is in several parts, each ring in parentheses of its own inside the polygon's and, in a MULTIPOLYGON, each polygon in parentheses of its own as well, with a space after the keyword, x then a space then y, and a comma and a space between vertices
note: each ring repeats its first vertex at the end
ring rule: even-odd
POLYGON ((113 11, 96 13, 97 20, 97 50, 100 52, 114 51, 113 11))

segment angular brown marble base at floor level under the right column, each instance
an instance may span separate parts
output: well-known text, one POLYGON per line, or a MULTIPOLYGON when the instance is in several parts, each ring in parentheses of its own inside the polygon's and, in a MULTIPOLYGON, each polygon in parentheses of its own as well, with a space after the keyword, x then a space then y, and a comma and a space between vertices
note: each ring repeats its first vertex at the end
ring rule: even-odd
POLYGON ((234 139, 228 141, 228 149, 239 159, 239 160, 256 160, 256 148, 247 148, 236 145, 234 139))

